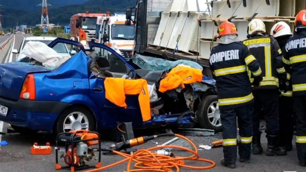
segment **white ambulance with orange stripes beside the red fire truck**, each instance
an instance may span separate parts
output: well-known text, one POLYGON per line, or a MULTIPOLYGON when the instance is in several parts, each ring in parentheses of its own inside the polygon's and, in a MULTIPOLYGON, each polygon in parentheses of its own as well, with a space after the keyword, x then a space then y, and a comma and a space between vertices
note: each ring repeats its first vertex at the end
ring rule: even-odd
POLYGON ((98 17, 95 42, 105 43, 114 49, 118 48, 121 55, 129 59, 134 46, 135 26, 126 26, 125 21, 125 13, 114 13, 111 16, 98 17))

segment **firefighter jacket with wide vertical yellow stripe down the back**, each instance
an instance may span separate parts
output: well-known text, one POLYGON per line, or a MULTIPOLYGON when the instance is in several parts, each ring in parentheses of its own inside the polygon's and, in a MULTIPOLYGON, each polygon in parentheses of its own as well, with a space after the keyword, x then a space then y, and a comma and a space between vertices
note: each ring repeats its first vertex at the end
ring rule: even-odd
MULTIPOLYGON (((278 78, 285 79, 282 51, 273 36, 254 35, 243 41, 258 61, 263 80, 253 89, 278 89, 278 78)), ((252 76, 250 77, 253 82, 252 76)))

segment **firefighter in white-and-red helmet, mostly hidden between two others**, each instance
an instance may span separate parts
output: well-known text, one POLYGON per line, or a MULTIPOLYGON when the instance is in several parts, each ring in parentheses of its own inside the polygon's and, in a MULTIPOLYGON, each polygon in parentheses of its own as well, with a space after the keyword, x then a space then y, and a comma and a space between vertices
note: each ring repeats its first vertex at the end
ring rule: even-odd
MULTIPOLYGON (((277 40, 281 50, 285 47, 285 44, 289 38, 293 36, 290 26, 280 21, 271 28, 270 34, 277 40)), ((289 71, 286 70, 288 73, 289 71)), ((289 74, 287 74, 288 80, 289 74)), ((286 151, 292 150, 293 139, 293 99, 292 99, 292 84, 289 80, 289 89, 287 92, 281 92, 279 97, 279 143, 278 146, 282 147, 286 151)))

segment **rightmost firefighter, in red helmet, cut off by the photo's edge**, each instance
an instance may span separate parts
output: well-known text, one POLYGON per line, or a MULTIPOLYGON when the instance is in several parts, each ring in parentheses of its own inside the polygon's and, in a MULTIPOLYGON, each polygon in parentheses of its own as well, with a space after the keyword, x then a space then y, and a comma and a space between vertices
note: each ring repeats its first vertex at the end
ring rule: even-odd
POLYGON ((297 13, 295 35, 283 48, 285 69, 290 69, 293 87, 293 111, 296 115, 296 146, 300 166, 306 166, 306 10, 297 13))

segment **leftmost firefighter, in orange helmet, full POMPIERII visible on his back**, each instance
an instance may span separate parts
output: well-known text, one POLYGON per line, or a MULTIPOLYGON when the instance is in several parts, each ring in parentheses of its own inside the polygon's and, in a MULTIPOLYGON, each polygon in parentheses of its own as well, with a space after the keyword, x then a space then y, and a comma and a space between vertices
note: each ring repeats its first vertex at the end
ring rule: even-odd
POLYGON ((251 156, 253 95, 247 67, 254 75, 254 84, 262 80, 261 69, 248 48, 237 39, 237 29, 229 21, 218 28, 218 45, 211 50, 210 68, 218 89, 218 106, 223 127, 222 166, 236 167, 237 120, 240 135, 239 161, 251 156))

